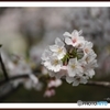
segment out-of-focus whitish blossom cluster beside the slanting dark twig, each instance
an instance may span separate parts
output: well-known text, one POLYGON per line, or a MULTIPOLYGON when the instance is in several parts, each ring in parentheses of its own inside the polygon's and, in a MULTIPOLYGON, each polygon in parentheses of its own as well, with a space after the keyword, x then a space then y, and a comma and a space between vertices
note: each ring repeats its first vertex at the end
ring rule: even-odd
POLYGON ((26 89, 34 88, 35 90, 41 90, 43 88, 42 82, 38 80, 37 76, 32 72, 31 65, 22 55, 11 55, 9 57, 7 53, 2 52, 3 62, 10 77, 15 77, 19 75, 28 75, 29 77, 18 78, 12 80, 13 87, 16 88, 20 84, 23 84, 26 89))

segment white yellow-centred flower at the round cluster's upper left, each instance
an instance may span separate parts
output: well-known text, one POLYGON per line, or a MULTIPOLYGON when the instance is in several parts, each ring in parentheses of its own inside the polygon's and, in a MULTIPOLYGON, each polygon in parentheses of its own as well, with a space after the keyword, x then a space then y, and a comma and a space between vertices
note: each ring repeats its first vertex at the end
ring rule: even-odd
POLYGON ((56 37, 55 45, 51 45, 50 50, 54 52, 53 55, 56 55, 58 59, 62 59, 66 54, 66 48, 64 46, 64 42, 62 42, 61 38, 56 37))

